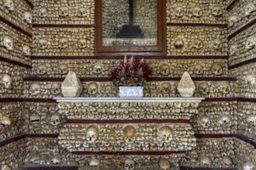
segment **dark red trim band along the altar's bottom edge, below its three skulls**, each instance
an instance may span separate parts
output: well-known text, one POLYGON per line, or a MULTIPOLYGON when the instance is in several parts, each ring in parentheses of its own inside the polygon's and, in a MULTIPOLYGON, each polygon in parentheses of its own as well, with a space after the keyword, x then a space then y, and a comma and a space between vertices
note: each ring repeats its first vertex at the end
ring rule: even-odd
POLYGON ((173 155, 186 151, 71 151, 73 155, 173 155))

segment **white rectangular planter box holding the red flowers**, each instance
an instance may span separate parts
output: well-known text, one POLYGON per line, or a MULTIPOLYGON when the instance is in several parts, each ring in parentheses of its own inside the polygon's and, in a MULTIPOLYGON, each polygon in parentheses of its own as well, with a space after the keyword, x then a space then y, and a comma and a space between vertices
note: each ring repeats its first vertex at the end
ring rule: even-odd
POLYGON ((119 97, 143 97, 143 87, 119 87, 119 97))

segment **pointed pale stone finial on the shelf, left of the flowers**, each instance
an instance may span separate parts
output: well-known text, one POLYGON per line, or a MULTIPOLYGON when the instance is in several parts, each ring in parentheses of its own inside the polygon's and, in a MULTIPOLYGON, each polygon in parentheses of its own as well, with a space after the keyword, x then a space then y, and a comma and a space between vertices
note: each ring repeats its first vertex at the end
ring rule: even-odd
POLYGON ((76 73, 70 71, 64 82, 61 84, 61 91, 64 97, 79 97, 83 86, 76 73))

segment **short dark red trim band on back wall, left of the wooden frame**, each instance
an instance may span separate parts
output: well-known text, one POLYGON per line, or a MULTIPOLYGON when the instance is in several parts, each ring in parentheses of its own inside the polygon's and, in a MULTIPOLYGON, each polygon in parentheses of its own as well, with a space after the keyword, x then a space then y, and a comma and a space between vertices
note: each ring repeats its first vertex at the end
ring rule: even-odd
POLYGON ((33 28, 94 28, 95 25, 78 24, 33 24, 33 28))

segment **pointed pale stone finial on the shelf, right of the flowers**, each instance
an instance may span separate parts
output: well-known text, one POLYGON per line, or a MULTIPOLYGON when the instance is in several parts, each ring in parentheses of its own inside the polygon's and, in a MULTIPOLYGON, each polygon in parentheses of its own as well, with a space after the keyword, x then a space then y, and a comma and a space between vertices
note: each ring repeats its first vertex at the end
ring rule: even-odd
POLYGON ((195 84, 188 72, 183 73, 181 81, 178 83, 178 93, 182 97, 192 97, 195 91, 195 84))

